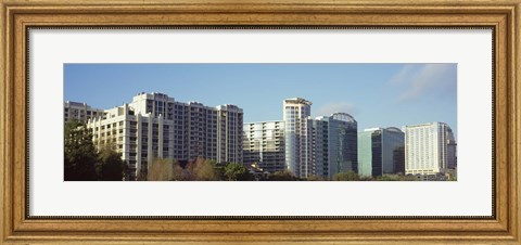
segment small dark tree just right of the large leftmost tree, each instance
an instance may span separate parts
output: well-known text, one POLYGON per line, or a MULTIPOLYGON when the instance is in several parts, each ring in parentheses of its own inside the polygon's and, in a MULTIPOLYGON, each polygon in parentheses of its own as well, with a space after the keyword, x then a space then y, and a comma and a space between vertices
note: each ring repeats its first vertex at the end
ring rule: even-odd
POLYGON ((125 176, 125 162, 122 155, 110 146, 100 150, 96 167, 98 180, 120 181, 125 176))

